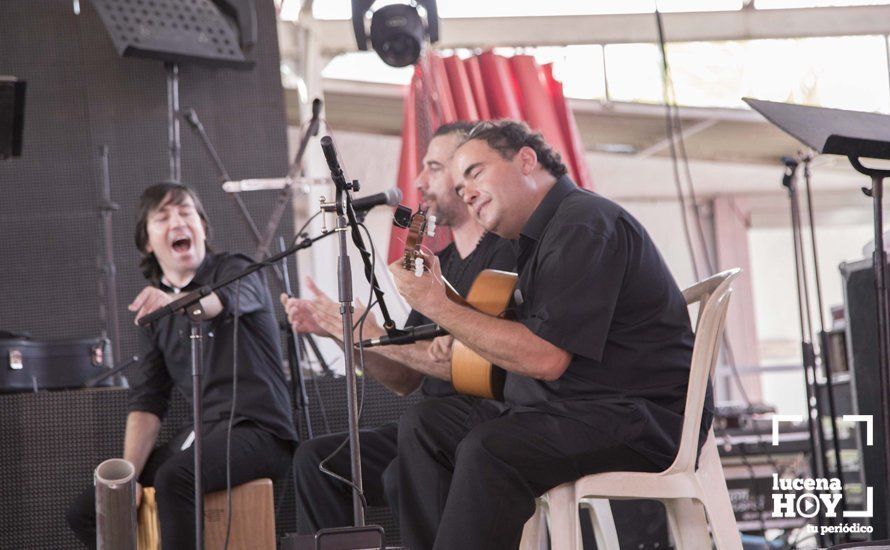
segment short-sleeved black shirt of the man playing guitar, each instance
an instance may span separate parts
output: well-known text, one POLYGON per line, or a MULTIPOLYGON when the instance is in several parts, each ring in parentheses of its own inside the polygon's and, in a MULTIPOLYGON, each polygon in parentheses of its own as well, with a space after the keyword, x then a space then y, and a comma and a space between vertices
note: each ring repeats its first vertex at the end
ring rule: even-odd
POLYGON ((553 382, 508 374, 505 401, 580 419, 669 466, 693 333, 683 295, 646 230, 563 176, 515 248, 518 320, 572 359, 553 382))

